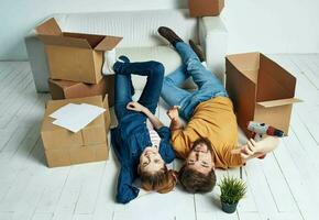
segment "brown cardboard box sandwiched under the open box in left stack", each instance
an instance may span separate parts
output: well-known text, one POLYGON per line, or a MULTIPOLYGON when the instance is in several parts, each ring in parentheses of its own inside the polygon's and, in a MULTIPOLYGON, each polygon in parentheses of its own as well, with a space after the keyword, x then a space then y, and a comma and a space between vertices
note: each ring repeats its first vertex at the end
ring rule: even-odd
POLYGON ((109 105, 114 103, 114 75, 105 76, 98 84, 85 84, 48 79, 50 91, 53 100, 75 99, 108 94, 109 105))

